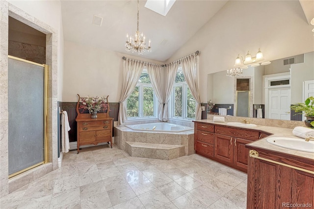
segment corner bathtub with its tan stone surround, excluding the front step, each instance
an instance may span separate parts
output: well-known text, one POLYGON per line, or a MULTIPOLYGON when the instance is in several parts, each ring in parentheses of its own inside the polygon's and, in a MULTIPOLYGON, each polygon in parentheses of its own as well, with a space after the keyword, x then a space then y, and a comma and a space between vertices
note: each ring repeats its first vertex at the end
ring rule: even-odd
POLYGON ((195 153, 194 129, 166 122, 115 126, 114 143, 126 150, 125 142, 182 145, 185 155, 195 153))

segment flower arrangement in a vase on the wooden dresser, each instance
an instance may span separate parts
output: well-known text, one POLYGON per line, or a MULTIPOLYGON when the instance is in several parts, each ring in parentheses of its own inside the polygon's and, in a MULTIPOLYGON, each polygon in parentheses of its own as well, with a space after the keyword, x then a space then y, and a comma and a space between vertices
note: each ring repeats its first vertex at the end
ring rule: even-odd
POLYGON ((89 113, 97 112, 100 110, 107 110, 108 104, 105 97, 90 97, 81 98, 82 104, 79 106, 79 109, 87 109, 89 113))

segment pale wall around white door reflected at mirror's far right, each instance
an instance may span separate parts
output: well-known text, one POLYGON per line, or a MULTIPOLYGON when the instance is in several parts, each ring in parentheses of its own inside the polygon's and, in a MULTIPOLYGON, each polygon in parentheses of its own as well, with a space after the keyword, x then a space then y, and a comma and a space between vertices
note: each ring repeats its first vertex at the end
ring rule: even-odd
POLYGON ((303 81, 314 80, 314 52, 304 54, 304 63, 291 65, 291 104, 303 103, 303 81))

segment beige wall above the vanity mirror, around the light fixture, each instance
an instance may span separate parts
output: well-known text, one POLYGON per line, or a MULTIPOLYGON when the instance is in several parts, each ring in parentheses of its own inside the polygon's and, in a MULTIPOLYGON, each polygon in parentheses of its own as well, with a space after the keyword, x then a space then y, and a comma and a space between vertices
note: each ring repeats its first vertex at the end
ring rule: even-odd
MULTIPOLYGON (((299 1, 228 1, 167 62, 199 50, 200 86, 210 73, 233 68, 238 53, 255 54, 265 61, 314 51, 313 26, 307 23, 299 1)), ((207 101, 207 89, 200 89, 207 101)))

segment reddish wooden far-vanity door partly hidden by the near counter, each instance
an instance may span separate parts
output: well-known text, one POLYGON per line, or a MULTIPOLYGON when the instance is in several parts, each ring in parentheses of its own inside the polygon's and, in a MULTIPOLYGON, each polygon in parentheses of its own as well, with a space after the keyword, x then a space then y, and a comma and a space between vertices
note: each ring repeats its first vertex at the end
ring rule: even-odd
POLYGON ((235 165, 247 169, 247 160, 250 149, 245 145, 252 141, 247 139, 235 138, 235 165))

